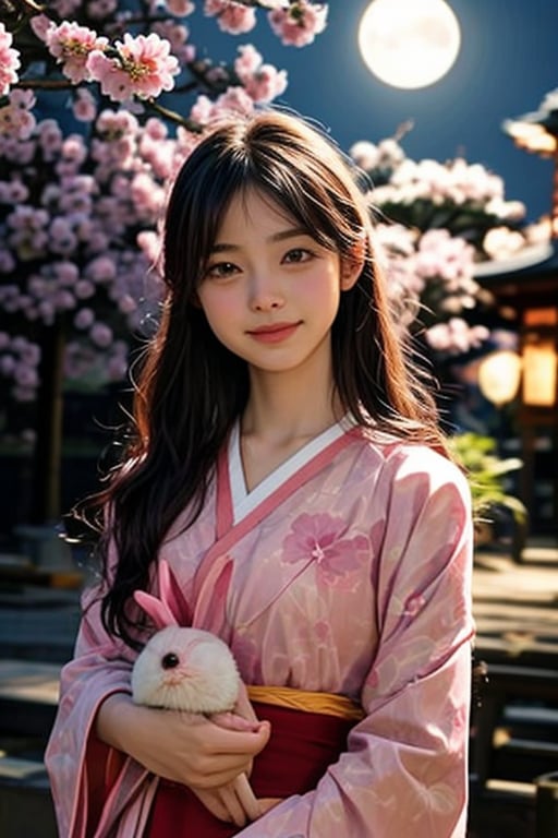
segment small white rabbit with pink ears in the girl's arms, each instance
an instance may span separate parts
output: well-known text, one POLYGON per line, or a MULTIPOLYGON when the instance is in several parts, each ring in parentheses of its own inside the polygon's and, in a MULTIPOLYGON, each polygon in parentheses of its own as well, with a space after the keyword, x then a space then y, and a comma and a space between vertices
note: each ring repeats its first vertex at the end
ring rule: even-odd
MULTIPOLYGON (((241 678, 231 650, 210 632, 179 625, 187 604, 167 562, 159 564, 160 598, 137 590, 134 599, 158 630, 140 653, 132 670, 132 698, 136 704, 208 716, 229 730, 253 725, 233 713, 241 678)), ((252 821, 259 804, 245 774, 234 781, 238 798, 252 821)), ((243 825, 243 824, 239 824, 243 825)))

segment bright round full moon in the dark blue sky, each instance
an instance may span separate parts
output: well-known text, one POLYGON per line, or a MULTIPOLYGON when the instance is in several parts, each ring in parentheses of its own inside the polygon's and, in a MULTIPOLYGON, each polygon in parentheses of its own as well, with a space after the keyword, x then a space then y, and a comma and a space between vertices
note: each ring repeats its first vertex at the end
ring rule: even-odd
POLYGON ((459 23, 445 0, 373 0, 359 24, 368 70, 393 87, 427 87, 452 67, 459 23))

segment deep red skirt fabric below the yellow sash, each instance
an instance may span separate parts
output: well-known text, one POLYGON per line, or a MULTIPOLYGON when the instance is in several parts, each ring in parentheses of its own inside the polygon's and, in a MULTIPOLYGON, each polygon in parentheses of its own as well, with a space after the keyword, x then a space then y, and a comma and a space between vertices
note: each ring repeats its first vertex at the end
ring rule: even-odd
MULTIPOLYGON (((352 719, 254 702, 271 735, 254 759, 251 786, 256 798, 288 798, 314 789, 328 765, 347 746, 352 719)), ((159 783, 146 838, 230 838, 239 827, 214 817, 184 786, 159 783)))

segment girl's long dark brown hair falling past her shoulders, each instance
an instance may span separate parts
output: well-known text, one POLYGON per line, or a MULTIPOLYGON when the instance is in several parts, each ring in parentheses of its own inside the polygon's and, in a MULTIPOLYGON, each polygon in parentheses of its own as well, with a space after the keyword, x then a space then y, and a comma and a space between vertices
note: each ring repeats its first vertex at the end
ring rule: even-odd
POLYGON ((445 450, 429 388, 390 315, 359 176, 322 131, 275 111, 215 128, 178 173, 165 219, 167 295, 134 384, 132 435, 93 500, 94 508, 110 511, 98 542, 106 583, 111 539, 118 552, 102 619, 130 645, 132 592, 147 585, 179 513, 189 511, 185 527, 199 515, 217 455, 248 397, 246 363, 217 340, 196 303, 233 195, 259 190, 341 259, 364 251, 361 275, 342 292, 332 326, 337 393, 360 424, 445 450))

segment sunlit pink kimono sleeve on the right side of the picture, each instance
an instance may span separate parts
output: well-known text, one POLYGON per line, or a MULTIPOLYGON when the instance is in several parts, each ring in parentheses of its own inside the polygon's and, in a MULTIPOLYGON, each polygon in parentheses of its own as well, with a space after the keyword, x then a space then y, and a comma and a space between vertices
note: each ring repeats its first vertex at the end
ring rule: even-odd
MULTIPOLYGON (((386 526, 373 562, 379 641, 366 713, 317 788, 242 838, 464 838, 471 694, 472 520, 459 469, 434 452, 384 475, 386 526)), ((383 501, 383 502, 384 502, 383 501)))

